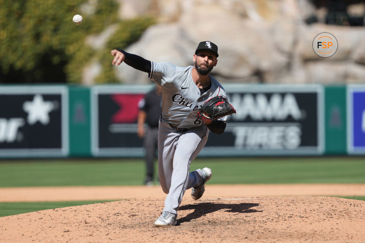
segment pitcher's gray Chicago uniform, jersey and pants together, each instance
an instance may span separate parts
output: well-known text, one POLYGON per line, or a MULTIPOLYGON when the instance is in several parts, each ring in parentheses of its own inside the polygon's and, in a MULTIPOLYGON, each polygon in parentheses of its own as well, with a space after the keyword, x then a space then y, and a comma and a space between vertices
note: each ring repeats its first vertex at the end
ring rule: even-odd
POLYGON ((209 135, 197 115, 199 108, 214 96, 226 95, 211 75, 211 87, 201 95, 191 75, 193 68, 152 62, 150 73, 150 79, 163 87, 158 167, 161 187, 167 193, 164 211, 174 214, 177 214, 185 190, 197 187, 203 181, 201 169, 189 173, 191 161, 200 153, 209 135), (176 127, 188 130, 181 132, 176 127))

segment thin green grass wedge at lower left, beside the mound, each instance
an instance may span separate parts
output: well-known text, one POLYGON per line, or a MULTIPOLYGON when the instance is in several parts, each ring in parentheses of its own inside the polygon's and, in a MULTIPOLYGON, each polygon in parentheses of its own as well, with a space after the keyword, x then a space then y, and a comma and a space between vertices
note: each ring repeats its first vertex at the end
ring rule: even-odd
POLYGON ((0 217, 39 210, 65 208, 85 204, 111 202, 109 201, 68 201, 68 202, 12 202, 0 203, 0 217))

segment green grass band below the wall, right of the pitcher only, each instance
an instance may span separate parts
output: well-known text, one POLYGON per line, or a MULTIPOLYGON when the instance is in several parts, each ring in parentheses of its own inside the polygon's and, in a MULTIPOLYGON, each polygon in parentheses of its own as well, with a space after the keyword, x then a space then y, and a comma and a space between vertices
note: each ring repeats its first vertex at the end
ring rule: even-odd
MULTIPOLYGON (((365 159, 309 157, 221 160, 209 163, 215 184, 365 183, 365 159)), ((192 166, 194 167, 194 166, 192 166)))

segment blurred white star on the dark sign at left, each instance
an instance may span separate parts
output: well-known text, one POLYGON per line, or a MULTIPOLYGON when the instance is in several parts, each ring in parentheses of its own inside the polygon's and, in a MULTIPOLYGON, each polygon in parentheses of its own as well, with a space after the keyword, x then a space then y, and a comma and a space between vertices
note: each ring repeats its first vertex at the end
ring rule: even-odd
POLYGON ((44 101, 40 94, 34 96, 33 101, 26 101, 23 104, 23 110, 28 113, 27 121, 30 125, 34 125, 37 121, 43 125, 50 122, 50 113, 55 109, 55 105, 50 101, 44 101))

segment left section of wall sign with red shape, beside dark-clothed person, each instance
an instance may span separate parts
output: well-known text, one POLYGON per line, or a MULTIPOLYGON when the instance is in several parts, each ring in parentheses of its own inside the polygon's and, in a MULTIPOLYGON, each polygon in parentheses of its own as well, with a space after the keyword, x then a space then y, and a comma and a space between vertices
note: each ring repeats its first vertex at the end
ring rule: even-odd
POLYGON ((91 89, 93 156, 144 156, 137 136, 138 103, 153 86, 95 86, 91 89))

